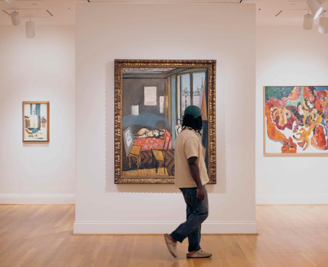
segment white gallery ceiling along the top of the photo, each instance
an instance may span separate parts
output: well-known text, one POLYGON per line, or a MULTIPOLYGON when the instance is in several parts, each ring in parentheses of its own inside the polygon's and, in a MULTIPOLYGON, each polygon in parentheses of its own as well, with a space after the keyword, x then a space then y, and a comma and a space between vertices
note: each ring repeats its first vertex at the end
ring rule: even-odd
MULTIPOLYGON (((255 3, 258 25, 302 25, 303 15, 307 12, 305 0, 16 0, 13 4, 0 0, 0 25, 11 25, 9 14, 14 9, 18 9, 22 25, 29 17, 37 25, 74 25, 75 3, 212 1, 236 5, 255 3)), ((328 10, 328 0, 323 7, 328 10)))

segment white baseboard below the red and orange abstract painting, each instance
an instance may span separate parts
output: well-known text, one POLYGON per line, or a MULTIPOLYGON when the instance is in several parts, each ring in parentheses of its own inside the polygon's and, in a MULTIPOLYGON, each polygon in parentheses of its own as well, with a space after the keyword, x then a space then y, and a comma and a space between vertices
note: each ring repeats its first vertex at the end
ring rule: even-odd
POLYGON ((257 195, 256 205, 328 205, 328 196, 257 195))

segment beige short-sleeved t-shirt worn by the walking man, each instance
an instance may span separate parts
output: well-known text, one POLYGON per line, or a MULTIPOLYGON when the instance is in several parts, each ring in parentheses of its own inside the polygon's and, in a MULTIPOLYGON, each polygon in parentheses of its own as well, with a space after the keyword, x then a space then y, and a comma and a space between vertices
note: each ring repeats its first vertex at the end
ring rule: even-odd
POLYGON ((197 187, 189 169, 188 159, 191 157, 197 157, 196 163, 199 167, 201 184, 207 184, 210 180, 198 134, 194 129, 186 128, 178 134, 175 141, 174 172, 176 187, 197 187))

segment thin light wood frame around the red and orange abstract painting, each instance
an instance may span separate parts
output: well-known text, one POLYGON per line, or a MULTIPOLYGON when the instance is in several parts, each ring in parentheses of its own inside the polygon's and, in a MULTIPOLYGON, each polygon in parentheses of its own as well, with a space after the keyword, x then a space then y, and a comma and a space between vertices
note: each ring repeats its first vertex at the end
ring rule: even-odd
POLYGON ((328 87, 328 85, 264 85, 263 86, 263 157, 328 157, 327 153, 267 153, 265 152, 265 135, 267 134, 265 118, 265 87, 328 87))

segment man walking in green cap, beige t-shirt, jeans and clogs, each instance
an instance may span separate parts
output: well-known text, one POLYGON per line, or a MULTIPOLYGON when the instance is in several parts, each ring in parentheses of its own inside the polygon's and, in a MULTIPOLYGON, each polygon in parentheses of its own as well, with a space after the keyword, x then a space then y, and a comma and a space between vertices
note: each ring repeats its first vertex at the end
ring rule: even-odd
POLYGON ((175 142, 175 185, 187 204, 187 220, 173 231, 165 234, 170 253, 176 258, 176 243, 188 237, 188 258, 208 258, 212 254, 200 248, 200 229, 209 213, 205 184, 209 182, 203 157, 201 135, 201 112, 197 106, 188 106, 182 119, 182 130, 175 142))

